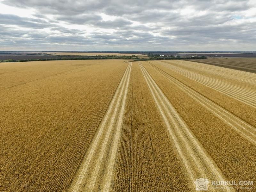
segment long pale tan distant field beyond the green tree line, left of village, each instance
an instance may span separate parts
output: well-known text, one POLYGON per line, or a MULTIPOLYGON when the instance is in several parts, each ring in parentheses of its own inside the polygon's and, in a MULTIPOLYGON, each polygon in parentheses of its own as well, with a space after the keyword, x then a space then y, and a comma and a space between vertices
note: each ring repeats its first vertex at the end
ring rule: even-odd
POLYGON ((57 55, 82 55, 82 56, 98 56, 98 55, 116 55, 116 56, 138 56, 138 57, 148 57, 147 55, 142 54, 132 54, 132 53, 100 53, 100 52, 87 52, 87 53, 79 53, 79 52, 44 52, 47 54, 57 54, 57 55))

